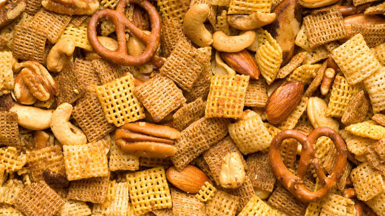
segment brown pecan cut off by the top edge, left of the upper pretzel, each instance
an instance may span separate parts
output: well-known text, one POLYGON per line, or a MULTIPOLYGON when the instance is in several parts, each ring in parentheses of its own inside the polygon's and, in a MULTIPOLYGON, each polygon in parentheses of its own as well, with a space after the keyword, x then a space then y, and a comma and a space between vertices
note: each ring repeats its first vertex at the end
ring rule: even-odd
POLYGON ((98 0, 42 0, 48 10, 68 15, 91 15, 99 8, 98 0))

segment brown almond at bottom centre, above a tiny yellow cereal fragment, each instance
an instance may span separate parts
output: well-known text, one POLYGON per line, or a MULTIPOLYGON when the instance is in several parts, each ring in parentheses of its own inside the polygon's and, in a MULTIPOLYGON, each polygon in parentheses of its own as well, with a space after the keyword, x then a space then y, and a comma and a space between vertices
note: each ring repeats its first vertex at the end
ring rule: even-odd
POLYGON ((203 171, 192 165, 187 165, 181 172, 172 166, 167 169, 166 177, 174 186, 188 193, 198 193, 206 181, 213 184, 203 171))

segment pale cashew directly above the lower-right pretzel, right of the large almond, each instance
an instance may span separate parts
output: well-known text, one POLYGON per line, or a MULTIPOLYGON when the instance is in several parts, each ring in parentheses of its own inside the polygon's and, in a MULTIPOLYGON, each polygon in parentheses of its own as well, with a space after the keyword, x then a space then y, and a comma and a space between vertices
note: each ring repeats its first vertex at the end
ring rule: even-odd
POLYGON ((329 127, 339 131, 340 124, 333 117, 326 116, 326 102, 318 97, 311 97, 308 100, 308 118, 314 128, 329 127))

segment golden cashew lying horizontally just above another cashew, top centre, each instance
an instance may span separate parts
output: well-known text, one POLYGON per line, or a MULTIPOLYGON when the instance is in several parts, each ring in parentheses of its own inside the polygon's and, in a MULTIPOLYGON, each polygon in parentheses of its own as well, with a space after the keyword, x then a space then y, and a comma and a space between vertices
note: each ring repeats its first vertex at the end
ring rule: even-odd
POLYGON ((272 23, 275 20, 275 13, 257 11, 250 15, 230 15, 227 20, 235 29, 253 30, 272 23))

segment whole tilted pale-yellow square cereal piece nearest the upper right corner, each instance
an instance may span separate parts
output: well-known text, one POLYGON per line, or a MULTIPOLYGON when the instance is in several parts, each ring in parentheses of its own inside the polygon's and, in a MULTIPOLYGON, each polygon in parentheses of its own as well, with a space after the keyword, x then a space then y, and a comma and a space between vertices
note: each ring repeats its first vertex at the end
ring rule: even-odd
POLYGON ((333 50, 332 57, 350 85, 361 82, 381 68, 361 34, 351 37, 333 50))

